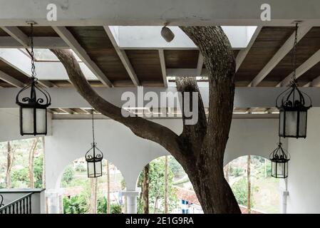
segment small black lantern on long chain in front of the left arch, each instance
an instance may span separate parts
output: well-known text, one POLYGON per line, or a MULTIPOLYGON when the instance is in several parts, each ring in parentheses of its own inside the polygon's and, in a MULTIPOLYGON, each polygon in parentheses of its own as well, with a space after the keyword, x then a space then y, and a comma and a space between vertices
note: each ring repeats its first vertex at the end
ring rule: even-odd
POLYGON ((97 143, 95 142, 93 111, 92 111, 92 136, 93 136, 93 143, 91 143, 90 150, 86 152, 88 177, 101 177, 103 153, 98 149, 97 143))

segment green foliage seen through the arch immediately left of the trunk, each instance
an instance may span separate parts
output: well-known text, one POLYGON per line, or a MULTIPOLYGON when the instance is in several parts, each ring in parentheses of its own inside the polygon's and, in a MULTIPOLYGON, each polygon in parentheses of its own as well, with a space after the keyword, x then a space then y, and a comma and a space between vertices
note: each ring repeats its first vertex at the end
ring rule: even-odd
MULTIPOLYGON (((178 205, 177 195, 173 189, 174 174, 170 167, 170 159, 168 160, 168 206, 169 212, 175 209, 178 205)), ((138 186, 142 187, 143 172, 141 172, 138 186)), ((165 199, 165 157, 159 157, 150 162, 149 166, 149 212, 162 213, 164 211, 165 199), (155 204, 158 206, 155 207, 155 204)), ((138 199, 138 213, 143 212, 143 200, 138 199)))

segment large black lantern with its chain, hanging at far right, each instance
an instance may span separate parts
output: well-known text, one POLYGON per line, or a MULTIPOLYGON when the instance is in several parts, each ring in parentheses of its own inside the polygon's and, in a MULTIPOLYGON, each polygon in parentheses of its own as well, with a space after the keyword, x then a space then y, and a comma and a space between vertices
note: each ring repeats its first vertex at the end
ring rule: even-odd
POLYGON ((299 90, 296 83, 296 38, 293 51, 293 76, 290 87, 281 93, 276 101, 279 109, 279 137, 283 138, 306 138, 307 111, 311 108, 311 98, 299 90))

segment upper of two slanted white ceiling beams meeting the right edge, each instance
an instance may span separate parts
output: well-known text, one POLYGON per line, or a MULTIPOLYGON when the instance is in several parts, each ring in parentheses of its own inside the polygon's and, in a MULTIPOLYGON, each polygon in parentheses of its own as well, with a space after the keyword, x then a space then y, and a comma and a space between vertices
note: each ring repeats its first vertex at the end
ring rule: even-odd
MULTIPOLYGON (((306 71, 309 71, 310 68, 312 68, 316 63, 319 63, 320 61, 320 49, 316 53, 314 53, 308 60, 306 60, 304 63, 302 63, 298 68, 296 68, 296 78, 299 78, 302 76, 306 71)), ((284 78, 283 81, 281 81, 277 87, 279 86, 288 86, 291 78, 293 76, 293 72, 289 74, 286 78, 284 78)))

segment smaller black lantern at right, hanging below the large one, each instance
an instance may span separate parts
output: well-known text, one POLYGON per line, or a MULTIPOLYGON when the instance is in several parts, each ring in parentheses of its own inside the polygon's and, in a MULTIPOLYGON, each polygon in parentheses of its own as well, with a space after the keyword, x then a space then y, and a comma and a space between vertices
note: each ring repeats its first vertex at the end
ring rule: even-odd
POLYGON ((272 162, 272 177, 287 178, 288 177, 288 162, 290 155, 282 148, 282 143, 278 143, 278 147, 270 154, 272 162))

